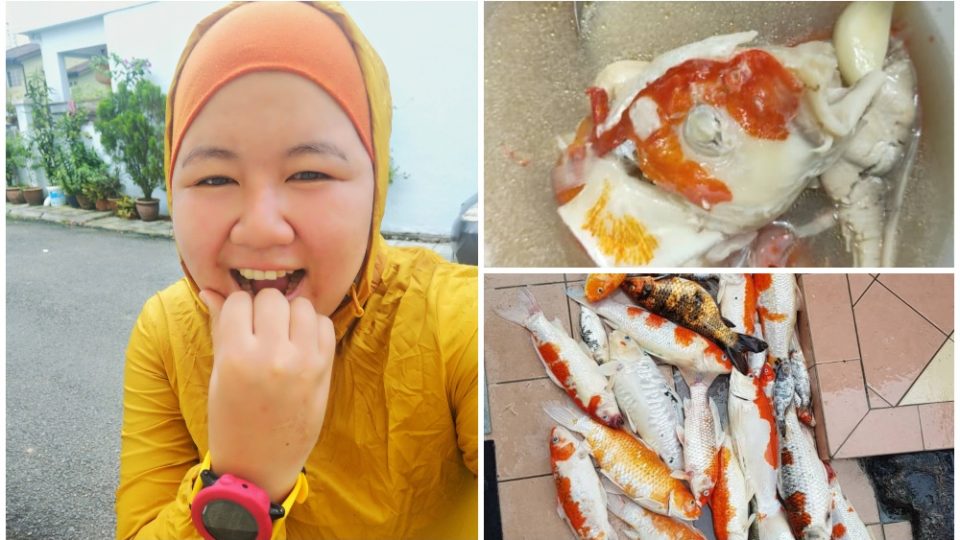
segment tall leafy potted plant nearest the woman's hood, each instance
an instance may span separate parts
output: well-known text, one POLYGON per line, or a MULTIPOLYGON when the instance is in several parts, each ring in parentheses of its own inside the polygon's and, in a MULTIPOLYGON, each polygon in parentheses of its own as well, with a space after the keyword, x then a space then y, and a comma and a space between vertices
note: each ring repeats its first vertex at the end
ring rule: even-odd
POLYGON ((111 55, 116 91, 100 101, 95 125, 100 142, 123 163, 130 179, 143 191, 137 211, 144 221, 159 215, 153 191, 163 184, 163 128, 166 101, 160 87, 147 79, 150 63, 111 55))

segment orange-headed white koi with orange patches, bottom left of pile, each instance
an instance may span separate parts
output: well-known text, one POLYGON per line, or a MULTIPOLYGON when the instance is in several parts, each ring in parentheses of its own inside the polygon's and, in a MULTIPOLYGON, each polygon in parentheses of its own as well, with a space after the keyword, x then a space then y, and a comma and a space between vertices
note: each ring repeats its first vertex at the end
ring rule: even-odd
POLYGON ((580 540, 616 540, 607 517, 607 494, 586 447, 569 431, 550 432, 550 465, 557 486, 557 513, 580 540))

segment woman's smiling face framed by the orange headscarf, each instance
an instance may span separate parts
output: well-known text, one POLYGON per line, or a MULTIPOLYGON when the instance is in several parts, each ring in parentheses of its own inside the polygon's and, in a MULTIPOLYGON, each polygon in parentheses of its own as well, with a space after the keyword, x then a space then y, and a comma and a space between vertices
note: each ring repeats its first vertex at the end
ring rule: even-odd
POLYGON ((349 293, 370 237, 373 164, 313 82, 255 72, 227 83, 187 129, 172 185, 180 256, 201 290, 274 286, 325 315, 349 293), (268 283, 251 271, 292 273, 268 283))

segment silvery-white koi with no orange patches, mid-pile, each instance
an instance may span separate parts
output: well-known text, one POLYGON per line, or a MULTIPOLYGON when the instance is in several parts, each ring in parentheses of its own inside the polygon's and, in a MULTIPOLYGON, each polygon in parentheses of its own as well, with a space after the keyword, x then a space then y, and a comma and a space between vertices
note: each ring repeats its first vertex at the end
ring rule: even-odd
POLYGON ((610 334, 611 360, 623 366, 612 377, 613 395, 630 427, 672 470, 683 470, 678 399, 663 374, 635 341, 621 330, 610 334))

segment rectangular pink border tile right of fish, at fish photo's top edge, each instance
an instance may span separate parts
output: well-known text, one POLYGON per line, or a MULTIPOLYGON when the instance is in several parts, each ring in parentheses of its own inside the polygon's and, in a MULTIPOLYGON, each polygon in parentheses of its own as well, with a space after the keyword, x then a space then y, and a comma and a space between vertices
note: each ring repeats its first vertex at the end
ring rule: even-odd
POLYGON ((801 278, 804 307, 818 364, 860 358, 843 274, 807 274, 801 278))

